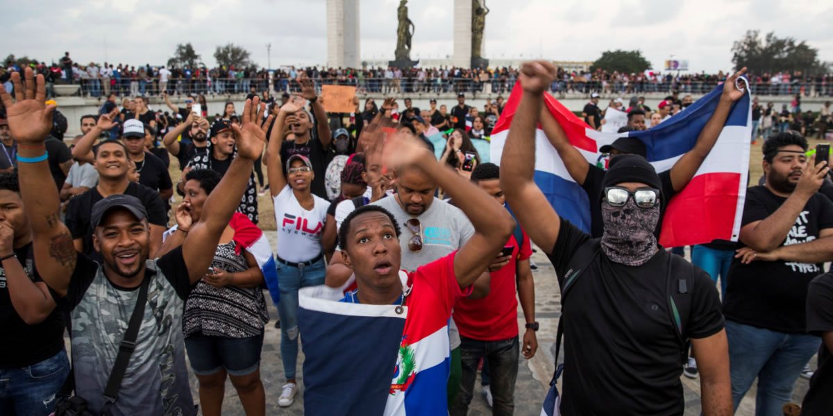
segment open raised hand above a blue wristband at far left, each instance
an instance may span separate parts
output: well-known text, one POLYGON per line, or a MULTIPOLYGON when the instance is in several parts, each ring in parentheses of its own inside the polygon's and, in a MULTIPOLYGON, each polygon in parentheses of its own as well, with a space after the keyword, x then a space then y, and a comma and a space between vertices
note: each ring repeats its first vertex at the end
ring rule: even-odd
POLYGON ((52 111, 55 105, 46 105, 46 87, 43 76, 34 76, 31 67, 24 70, 26 89, 24 91, 20 81, 20 72, 12 72, 12 86, 14 86, 14 100, 5 88, 0 86, 0 99, 6 106, 8 127, 12 137, 18 144, 24 146, 39 146, 52 131, 52 111), (37 79, 37 84, 36 84, 37 79))

